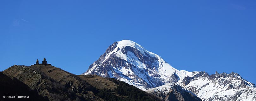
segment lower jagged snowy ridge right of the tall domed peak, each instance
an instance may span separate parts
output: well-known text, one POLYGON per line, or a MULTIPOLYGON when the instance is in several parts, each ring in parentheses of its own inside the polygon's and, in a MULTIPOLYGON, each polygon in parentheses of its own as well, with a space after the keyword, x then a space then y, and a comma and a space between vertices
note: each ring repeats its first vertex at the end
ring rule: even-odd
POLYGON ((237 73, 209 75, 200 72, 186 77, 182 85, 203 101, 256 101, 256 86, 237 73))

